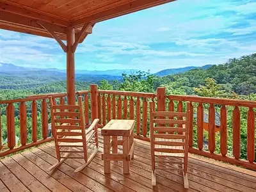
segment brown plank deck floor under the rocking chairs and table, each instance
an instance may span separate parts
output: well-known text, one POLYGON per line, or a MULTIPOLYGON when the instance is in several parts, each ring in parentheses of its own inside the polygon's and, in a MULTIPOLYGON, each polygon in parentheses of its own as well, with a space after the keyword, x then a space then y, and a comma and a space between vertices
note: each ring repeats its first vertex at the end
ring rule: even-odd
MULTIPOLYGON (((99 141, 102 147, 102 138, 99 141)), ((0 191, 256 191, 255 172, 195 156, 189 157, 189 189, 183 188, 182 175, 172 170, 157 170, 157 186, 152 188, 148 145, 136 140, 129 175, 123 175, 121 162, 112 162, 111 173, 104 175, 102 148, 79 173, 74 170, 82 159, 67 159, 58 170, 45 172, 57 161, 54 145, 48 143, 1 159, 0 191)))

